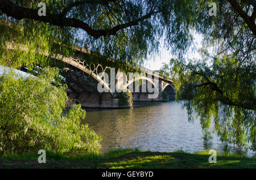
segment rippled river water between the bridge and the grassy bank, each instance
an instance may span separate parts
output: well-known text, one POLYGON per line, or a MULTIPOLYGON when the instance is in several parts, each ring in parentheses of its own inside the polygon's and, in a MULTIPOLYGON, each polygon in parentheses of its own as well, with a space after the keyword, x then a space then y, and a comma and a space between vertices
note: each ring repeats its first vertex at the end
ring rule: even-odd
MULTIPOLYGON (((223 153, 226 145, 214 134, 213 139, 205 141, 200 122, 188 122, 187 110, 181 106, 181 103, 169 101, 134 102, 134 109, 85 108, 86 118, 82 123, 88 123, 102 136, 102 152, 139 148, 158 152, 214 149, 223 153)), ((234 146, 228 149, 231 153, 255 155, 255 152, 234 146)))

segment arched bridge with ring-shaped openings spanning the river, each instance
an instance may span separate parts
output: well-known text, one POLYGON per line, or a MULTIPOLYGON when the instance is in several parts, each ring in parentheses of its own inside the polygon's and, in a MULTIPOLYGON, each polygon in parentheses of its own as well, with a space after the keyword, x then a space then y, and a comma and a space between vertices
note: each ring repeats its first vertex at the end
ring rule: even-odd
MULTIPOLYGON (((7 46, 8 49, 27 50, 24 45, 8 43, 7 46)), ((133 72, 122 72, 113 59, 112 63, 102 65, 98 62, 101 55, 92 55, 80 46, 75 46, 75 49, 76 52, 69 57, 38 51, 64 63, 61 72, 71 98, 68 105, 79 103, 90 108, 133 108, 133 101, 168 101, 175 97, 172 80, 155 71, 131 67, 133 72)))

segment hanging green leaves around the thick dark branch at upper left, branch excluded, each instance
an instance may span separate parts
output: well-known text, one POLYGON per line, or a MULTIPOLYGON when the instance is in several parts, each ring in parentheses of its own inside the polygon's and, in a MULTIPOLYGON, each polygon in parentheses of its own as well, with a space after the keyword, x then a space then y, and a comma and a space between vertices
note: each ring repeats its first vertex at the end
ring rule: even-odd
MULTIPOLYGON (((11 0, 11 2, 17 6, 38 10, 40 1, 11 0)), ((72 0, 43 2, 47 6, 47 14, 53 15, 61 15, 73 3, 72 0)), ((5 38, 0 40, 0 57, 5 58, 0 59, 8 58, 9 61, 0 63, 6 66, 12 65, 12 67, 31 65, 31 63, 45 65, 47 58, 36 54, 39 47, 49 52, 60 52, 61 49, 62 54, 68 54, 65 45, 72 43, 88 48, 91 52, 117 59, 121 67, 127 62, 137 66, 137 63, 142 63, 148 55, 159 52, 159 40, 163 36, 165 44, 168 45, 167 48, 173 54, 182 56, 192 43, 189 28, 192 24, 196 24, 195 7, 197 6, 198 2, 190 0, 129 0, 112 1, 104 5, 97 2, 80 3, 70 8, 65 18, 76 19, 98 31, 108 30, 118 25, 122 27, 122 24, 131 23, 148 15, 148 18, 138 21, 136 25, 121 28, 114 36, 107 35, 97 39, 79 28, 58 27, 51 23, 30 19, 17 20, 3 14, 0 35, 4 35, 5 38), (12 23, 12 28, 6 25, 9 22, 12 23), (21 49, 16 54, 7 53, 5 44, 10 41, 28 45, 30 58, 21 49)))

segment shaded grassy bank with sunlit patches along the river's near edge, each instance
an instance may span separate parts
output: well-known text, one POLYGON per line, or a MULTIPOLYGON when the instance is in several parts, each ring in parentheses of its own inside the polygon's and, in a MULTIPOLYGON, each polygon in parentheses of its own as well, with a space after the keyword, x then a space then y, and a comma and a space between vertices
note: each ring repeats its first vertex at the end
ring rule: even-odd
POLYGON ((210 164, 207 152, 149 152, 138 149, 118 149, 104 155, 67 156, 47 152, 46 164, 39 164, 37 153, 4 155, 0 168, 256 168, 255 158, 217 155, 210 164))

